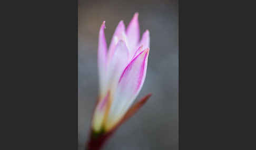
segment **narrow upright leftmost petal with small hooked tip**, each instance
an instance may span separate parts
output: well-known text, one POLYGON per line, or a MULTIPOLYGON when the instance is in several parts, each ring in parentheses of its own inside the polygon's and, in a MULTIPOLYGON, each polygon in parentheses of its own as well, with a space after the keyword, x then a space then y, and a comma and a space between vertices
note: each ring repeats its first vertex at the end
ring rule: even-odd
POLYGON ((102 23, 99 33, 99 43, 98 43, 98 69, 99 69, 99 78, 100 78, 100 95, 106 93, 106 80, 105 80, 105 71, 106 71, 106 53, 107 45, 104 34, 105 21, 102 23))

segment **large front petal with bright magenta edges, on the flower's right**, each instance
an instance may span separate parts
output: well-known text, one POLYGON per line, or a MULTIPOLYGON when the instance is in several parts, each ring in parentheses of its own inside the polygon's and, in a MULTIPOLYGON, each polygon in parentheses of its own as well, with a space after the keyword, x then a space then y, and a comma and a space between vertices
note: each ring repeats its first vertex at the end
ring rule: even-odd
POLYGON ((124 69, 113 96, 106 130, 110 130, 121 119, 139 94, 146 76, 148 56, 149 49, 146 49, 124 69))

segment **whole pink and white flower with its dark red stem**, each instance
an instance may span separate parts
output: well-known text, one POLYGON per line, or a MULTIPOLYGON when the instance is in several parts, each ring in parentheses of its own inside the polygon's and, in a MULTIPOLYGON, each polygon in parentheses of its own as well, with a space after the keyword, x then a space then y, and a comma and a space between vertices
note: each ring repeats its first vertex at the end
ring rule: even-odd
POLYGON ((117 25, 109 49, 101 25, 98 48, 100 93, 91 128, 88 149, 100 149, 105 139, 132 116, 150 97, 146 95, 132 105, 146 77, 150 35, 146 30, 140 40, 138 13, 125 29, 123 21, 117 25))

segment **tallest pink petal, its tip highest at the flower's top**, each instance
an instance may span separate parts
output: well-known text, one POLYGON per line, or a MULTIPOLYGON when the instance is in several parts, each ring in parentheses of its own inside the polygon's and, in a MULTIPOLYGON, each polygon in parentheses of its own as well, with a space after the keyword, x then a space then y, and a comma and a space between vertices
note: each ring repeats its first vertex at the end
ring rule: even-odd
POLYGON ((140 40, 140 26, 138 20, 139 13, 135 13, 129 26, 126 30, 126 35, 129 41, 129 47, 132 52, 135 52, 136 46, 140 40))

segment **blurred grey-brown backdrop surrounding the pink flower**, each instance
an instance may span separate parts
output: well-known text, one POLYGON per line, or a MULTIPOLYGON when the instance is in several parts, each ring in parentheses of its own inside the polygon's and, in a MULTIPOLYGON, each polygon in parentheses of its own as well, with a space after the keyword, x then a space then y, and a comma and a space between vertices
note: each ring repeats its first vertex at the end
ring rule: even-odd
POLYGON ((178 0, 78 1, 78 149, 84 150, 98 93, 97 40, 102 22, 110 44, 115 27, 139 12, 150 31, 146 79, 139 94, 152 97, 106 143, 104 150, 178 149, 178 0))

